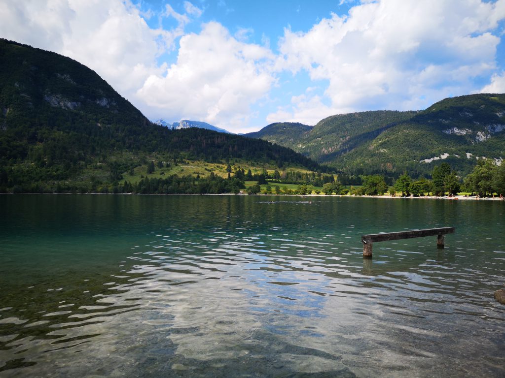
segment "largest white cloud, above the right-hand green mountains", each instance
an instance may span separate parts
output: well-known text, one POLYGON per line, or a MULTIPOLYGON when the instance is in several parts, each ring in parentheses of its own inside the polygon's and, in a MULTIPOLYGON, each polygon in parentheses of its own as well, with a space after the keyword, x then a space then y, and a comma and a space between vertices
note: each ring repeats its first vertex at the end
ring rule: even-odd
POLYGON ((468 94, 476 77, 496 69, 500 38, 492 31, 504 18, 503 0, 382 0, 332 14, 308 32, 285 29, 277 70, 328 81, 331 102, 307 96, 290 113, 313 108, 321 119, 349 110, 421 109, 468 94))

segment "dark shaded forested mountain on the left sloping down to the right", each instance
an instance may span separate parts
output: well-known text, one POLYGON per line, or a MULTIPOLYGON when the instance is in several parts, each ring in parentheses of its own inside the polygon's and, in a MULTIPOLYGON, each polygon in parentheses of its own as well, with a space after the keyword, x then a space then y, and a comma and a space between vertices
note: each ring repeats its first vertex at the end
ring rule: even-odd
POLYGON ((0 39, 0 190, 51 191, 80 180, 85 191, 97 169, 113 183, 153 154, 159 161, 239 158, 327 169, 266 141, 153 124, 79 62, 0 39))

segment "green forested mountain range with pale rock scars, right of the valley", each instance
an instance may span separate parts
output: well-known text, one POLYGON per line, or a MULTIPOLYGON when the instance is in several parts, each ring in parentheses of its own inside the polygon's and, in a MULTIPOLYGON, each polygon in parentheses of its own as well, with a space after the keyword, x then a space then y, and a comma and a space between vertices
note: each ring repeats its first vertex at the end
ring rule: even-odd
POLYGON ((329 163, 350 174, 403 170, 419 176, 441 160, 468 173, 477 157, 505 157, 505 95, 447 98, 423 111, 366 111, 334 115, 304 133, 268 125, 259 138, 329 163))

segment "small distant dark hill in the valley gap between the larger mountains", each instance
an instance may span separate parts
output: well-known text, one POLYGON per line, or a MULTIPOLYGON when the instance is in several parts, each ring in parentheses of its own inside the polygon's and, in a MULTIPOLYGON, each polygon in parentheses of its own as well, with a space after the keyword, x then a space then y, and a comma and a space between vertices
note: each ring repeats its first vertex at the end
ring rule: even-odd
POLYGON ((304 135, 311 131, 313 126, 298 122, 276 122, 271 123, 255 133, 243 134, 249 138, 260 138, 270 143, 281 146, 292 145, 293 142, 302 140, 304 135))

